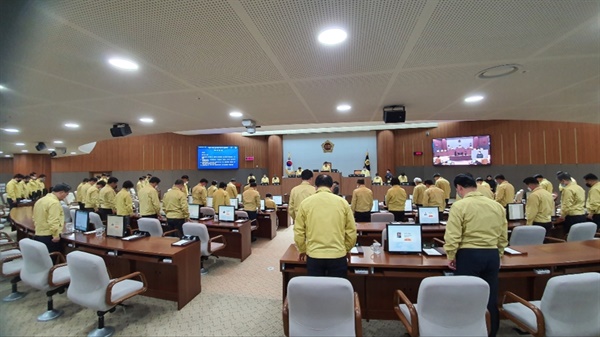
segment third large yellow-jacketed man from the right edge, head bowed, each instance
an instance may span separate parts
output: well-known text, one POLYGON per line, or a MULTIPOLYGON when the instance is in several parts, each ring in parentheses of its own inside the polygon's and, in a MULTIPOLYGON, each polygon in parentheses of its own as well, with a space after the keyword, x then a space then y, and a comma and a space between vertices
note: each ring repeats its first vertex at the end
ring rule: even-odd
POLYGON ((523 179, 527 189, 531 191, 527 197, 525 213, 527 225, 536 225, 546 228, 546 232, 552 229, 552 214, 554 214, 554 198, 545 190, 534 177, 523 179))

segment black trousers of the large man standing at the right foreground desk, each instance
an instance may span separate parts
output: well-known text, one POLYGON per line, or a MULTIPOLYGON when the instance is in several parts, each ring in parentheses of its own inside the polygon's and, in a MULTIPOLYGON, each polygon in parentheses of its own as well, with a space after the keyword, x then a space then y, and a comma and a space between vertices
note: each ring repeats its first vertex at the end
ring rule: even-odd
POLYGON ((498 249, 463 248, 456 253, 455 275, 477 276, 490 286, 488 311, 490 312, 490 336, 496 336, 500 326, 498 311, 498 270, 500 256, 498 249))

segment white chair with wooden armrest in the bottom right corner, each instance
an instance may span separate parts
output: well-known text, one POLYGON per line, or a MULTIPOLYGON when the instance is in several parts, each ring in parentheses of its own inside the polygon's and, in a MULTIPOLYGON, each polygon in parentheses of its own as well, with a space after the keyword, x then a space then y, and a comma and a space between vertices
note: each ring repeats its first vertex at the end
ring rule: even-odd
POLYGON ((600 273, 555 276, 540 301, 507 291, 500 313, 536 337, 600 336, 600 273))

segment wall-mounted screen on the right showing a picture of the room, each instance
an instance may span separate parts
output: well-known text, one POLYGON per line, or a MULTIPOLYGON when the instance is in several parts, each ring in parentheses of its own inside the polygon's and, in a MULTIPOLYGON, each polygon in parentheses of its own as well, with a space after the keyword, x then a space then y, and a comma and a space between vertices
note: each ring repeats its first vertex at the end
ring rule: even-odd
POLYGON ((492 165, 490 135, 434 138, 434 166, 492 165))

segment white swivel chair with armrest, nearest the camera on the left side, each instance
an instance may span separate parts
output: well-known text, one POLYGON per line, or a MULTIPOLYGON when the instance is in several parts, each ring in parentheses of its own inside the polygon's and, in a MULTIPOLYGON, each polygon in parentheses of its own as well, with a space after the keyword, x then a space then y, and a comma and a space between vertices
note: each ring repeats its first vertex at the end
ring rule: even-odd
POLYGON ((97 255, 74 251, 67 255, 71 285, 67 297, 75 304, 96 310, 98 328, 88 336, 108 337, 115 332, 104 326, 104 315, 114 312, 123 301, 146 291, 146 278, 140 272, 110 279, 104 260, 97 255), (139 278, 140 281, 133 280, 139 278))

